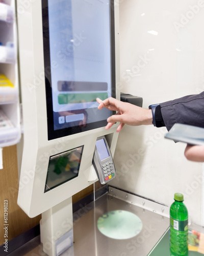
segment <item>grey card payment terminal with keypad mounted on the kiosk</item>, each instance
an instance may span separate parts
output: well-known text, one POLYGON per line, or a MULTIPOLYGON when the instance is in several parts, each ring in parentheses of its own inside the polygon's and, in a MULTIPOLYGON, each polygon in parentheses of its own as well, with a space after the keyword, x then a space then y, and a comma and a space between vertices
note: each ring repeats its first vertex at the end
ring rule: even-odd
POLYGON ((98 137, 96 140, 93 166, 101 184, 106 184, 115 178, 115 166, 105 136, 98 137))

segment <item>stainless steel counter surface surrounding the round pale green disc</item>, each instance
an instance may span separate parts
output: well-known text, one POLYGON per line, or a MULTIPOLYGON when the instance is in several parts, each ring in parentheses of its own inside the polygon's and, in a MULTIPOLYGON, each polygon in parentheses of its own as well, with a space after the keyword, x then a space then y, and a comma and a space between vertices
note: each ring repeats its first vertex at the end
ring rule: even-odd
MULTIPOLYGON (((145 204, 147 204, 146 200, 145 204)), ((158 207, 162 209, 164 206, 158 207)), ((153 210, 147 210, 105 194, 73 214, 74 244, 62 255, 147 256, 169 226, 169 219, 153 210), (112 210, 126 210, 136 214, 143 222, 141 232, 136 237, 125 240, 111 239, 100 233, 97 228, 98 218, 112 210)), ((44 256, 39 238, 32 241, 29 242, 30 245, 25 244, 10 256, 44 256)))

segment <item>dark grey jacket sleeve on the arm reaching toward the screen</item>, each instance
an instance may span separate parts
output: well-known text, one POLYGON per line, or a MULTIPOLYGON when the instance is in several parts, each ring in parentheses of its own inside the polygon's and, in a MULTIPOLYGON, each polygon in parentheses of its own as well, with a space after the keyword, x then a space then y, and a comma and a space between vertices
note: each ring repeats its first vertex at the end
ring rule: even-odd
POLYGON ((169 131, 174 123, 204 128, 204 92, 160 103, 164 125, 169 131))

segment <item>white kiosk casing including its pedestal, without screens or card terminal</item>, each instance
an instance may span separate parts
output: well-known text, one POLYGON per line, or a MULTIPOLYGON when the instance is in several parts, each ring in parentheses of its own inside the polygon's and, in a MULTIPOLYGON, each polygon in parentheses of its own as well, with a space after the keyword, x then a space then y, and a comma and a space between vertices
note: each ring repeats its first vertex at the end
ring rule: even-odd
MULTIPOLYGON (((60 2, 63 0, 59 0, 60 2)), ((25 3, 24 0, 17 0, 24 132, 21 140, 23 148, 17 203, 31 218, 42 214, 40 232, 43 251, 49 256, 55 256, 73 243, 72 195, 98 180, 92 165, 97 137, 106 136, 113 156, 118 134, 117 124, 114 124, 108 131, 103 126, 48 139, 45 74, 49 70, 52 72, 55 67, 52 63, 49 67, 44 66, 42 3, 44 4, 45 1, 25 3), (45 191, 50 157, 81 146, 83 146, 83 154, 78 176, 45 191)), ((86 3, 90 4, 87 1, 86 3)), ((111 47, 115 52, 115 97, 120 99, 120 92, 117 90, 120 88, 118 4, 112 0, 110 4, 112 8, 114 6, 115 13, 114 20, 111 20, 111 26, 114 24, 114 45, 111 47)))

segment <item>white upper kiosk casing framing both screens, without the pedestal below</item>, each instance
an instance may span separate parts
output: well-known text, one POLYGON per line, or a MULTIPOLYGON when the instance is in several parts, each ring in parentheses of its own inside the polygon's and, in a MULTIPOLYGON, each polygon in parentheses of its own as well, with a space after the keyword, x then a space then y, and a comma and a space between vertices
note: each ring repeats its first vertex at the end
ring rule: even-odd
MULTIPOLYGON (((120 99, 120 92, 117 90, 120 84, 118 4, 114 4, 114 7, 116 98, 120 99)), ((41 8, 41 1, 31 1, 26 8, 24 1, 17 1, 17 10, 23 10, 18 13, 17 18, 24 131, 17 203, 31 218, 97 181, 92 165, 96 139, 105 135, 114 155, 118 137, 117 124, 114 124, 108 131, 105 127, 99 127, 62 138, 47 139, 41 8), (49 157, 81 145, 84 145, 84 149, 79 176, 44 193, 49 157)))

